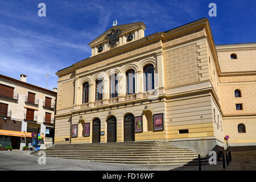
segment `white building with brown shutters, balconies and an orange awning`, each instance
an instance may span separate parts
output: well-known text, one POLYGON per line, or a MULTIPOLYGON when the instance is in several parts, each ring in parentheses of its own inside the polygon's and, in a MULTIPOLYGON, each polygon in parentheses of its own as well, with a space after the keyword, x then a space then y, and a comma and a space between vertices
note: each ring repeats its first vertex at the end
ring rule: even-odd
POLYGON ((52 146, 54 138, 55 92, 0 75, 0 147, 22 150, 36 134, 38 146, 52 146))

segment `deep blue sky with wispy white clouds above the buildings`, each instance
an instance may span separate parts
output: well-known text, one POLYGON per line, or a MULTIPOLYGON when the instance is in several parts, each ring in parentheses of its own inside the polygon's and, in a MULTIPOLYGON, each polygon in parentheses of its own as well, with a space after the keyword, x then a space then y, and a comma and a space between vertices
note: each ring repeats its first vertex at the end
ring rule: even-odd
POLYGON ((55 73, 90 56, 93 39, 118 24, 144 22, 145 36, 209 18, 215 44, 256 42, 256 1, 0 0, 0 74, 48 89, 55 73), (46 17, 38 4, 46 4, 46 17), (209 3, 217 5, 210 17, 209 3))

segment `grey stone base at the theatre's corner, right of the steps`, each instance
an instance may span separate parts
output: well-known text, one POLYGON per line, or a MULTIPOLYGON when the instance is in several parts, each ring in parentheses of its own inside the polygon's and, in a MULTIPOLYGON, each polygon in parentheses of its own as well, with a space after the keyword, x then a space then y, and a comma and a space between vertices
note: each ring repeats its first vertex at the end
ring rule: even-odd
POLYGON ((224 143, 212 137, 171 139, 169 142, 177 147, 190 148, 202 156, 208 155, 209 151, 216 151, 218 154, 225 147, 224 143))

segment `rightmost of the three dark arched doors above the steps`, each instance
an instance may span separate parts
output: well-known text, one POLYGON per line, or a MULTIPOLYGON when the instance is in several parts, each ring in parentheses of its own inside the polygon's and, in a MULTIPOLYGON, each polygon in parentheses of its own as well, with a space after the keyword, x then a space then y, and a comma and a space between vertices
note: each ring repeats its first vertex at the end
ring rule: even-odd
POLYGON ((125 142, 131 142, 135 140, 133 114, 125 115, 125 118, 123 119, 123 134, 125 142))

